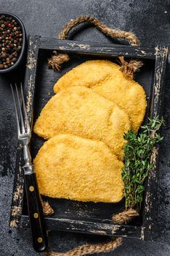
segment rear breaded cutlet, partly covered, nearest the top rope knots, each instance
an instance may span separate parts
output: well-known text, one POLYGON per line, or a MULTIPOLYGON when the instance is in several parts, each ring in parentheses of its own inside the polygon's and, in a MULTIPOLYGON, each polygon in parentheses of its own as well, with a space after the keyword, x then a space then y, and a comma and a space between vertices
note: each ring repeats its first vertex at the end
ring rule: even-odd
POLYGON ((111 61, 86 61, 63 75, 54 86, 57 93, 69 86, 86 86, 111 100, 128 113, 131 128, 138 131, 147 102, 144 89, 131 78, 126 78, 120 66, 111 61))

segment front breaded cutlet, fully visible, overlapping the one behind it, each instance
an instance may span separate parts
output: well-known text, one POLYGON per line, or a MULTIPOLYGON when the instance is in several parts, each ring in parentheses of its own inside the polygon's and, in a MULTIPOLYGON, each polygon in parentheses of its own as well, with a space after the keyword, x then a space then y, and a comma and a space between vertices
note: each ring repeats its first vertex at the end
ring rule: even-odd
POLYGON ((56 135, 34 159, 42 195, 116 203, 123 198, 123 162, 101 141, 56 135))

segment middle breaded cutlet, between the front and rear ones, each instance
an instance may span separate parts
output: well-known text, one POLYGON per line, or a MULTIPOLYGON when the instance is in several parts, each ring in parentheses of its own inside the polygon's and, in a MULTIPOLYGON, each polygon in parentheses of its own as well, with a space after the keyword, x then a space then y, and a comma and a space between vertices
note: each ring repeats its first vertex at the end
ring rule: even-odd
POLYGON ((101 140, 123 159, 123 135, 130 129, 124 110, 84 86, 62 89, 52 97, 36 120, 34 132, 49 139, 58 133, 101 140))

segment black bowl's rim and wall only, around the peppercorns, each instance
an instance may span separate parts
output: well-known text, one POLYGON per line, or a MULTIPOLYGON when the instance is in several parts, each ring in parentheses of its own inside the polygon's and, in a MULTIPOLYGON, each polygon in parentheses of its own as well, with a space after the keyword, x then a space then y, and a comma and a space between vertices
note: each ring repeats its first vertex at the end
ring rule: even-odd
POLYGON ((23 25, 23 22, 20 20, 20 18, 18 18, 17 16, 8 13, 8 12, 0 12, 0 15, 5 15, 5 16, 10 16, 12 18, 14 18, 14 20, 16 20, 18 22, 18 25, 20 26, 22 33, 23 33, 23 45, 22 45, 22 49, 20 51, 20 56, 18 57, 18 60, 15 62, 15 64, 7 69, 0 69, 0 74, 4 74, 10 71, 13 71, 14 69, 17 69, 18 66, 20 66, 21 62, 24 59, 24 53, 26 51, 26 29, 23 25))

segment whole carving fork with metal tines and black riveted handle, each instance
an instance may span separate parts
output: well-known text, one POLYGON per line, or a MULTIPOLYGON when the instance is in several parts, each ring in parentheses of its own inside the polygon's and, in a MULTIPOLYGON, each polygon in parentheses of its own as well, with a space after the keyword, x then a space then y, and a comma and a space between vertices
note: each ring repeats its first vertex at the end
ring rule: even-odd
POLYGON ((23 165, 23 171, 33 246, 37 252, 43 252, 47 248, 47 230, 45 227, 45 219, 42 211, 42 200, 39 195, 36 174, 34 173, 34 166, 31 163, 31 154, 28 148, 31 139, 31 129, 26 113, 23 87, 22 84, 20 84, 19 91, 16 83, 15 86, 12 86, 12 84, 10 84, 10 86, 15 104, 18 140, 23 145, 23 159, 25 162, 25 165, 23 165))

